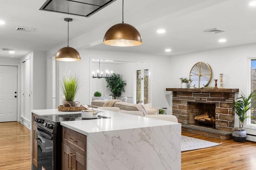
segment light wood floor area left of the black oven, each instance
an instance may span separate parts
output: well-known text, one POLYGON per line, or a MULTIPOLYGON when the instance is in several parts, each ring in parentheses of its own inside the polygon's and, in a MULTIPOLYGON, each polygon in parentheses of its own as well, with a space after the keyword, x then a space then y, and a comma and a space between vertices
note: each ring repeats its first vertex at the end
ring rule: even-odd
POLYGON ((30 170, 30 130, 19 122, 0 123, 0 170, 30 170))

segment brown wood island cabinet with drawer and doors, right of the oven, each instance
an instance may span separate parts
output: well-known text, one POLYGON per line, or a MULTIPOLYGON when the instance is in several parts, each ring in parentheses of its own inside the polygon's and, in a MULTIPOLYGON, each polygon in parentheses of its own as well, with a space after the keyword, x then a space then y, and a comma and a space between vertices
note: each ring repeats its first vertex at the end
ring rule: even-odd
POLYGON ((62 170, 86 170, 87 137, 62 127, 62 170))

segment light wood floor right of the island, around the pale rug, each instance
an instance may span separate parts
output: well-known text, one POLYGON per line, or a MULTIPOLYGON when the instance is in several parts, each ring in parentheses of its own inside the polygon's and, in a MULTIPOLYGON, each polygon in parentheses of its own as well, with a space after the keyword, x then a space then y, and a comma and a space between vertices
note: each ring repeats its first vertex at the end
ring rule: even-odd
POLYGON ((256 143, 220 140, 182 132, 182 135, 221 143, 206 149, 181 153, 182 170, 256 170, 256 143))

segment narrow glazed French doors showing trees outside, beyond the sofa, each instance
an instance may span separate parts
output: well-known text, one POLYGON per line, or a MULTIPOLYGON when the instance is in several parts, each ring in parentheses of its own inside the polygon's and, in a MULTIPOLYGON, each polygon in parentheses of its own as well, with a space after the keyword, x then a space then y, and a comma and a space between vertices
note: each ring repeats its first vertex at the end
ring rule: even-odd
POLYGON ((148 69, 136 71, 136 104, 148 104, 148 69))

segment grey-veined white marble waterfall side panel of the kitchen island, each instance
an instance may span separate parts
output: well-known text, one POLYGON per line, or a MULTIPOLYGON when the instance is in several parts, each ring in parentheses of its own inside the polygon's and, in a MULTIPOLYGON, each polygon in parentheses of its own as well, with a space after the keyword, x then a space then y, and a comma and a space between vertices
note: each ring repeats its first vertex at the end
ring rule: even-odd
POLYGON ((180 141, 180 124, 92 133, 88 169, 180 170, 180 141))

